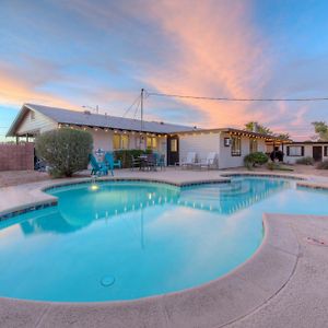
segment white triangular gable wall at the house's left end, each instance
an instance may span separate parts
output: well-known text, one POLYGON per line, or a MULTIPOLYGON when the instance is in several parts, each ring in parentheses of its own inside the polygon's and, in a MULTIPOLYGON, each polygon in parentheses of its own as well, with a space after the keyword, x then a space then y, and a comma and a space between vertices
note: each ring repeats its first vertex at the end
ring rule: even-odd
POLYGON ((57 128, 57 122, 48 118, 47 116, 34 112, 34 118, 32 117, 32 110, 28 110, 17 128, 16 134, 24 136, 26 133, 43 133, 57 128))

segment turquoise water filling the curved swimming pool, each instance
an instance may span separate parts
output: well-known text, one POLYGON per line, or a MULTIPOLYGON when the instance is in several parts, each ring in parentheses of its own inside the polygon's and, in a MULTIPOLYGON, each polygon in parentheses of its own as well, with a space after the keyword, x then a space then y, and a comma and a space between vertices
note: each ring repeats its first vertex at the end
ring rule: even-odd
POLYGON ((96 302, 180 291, 246 261, 262 241, 263 212, 328 214, 328 192, 277 178, 49 192, 58 207, 0 223, 0 296, 96 302))

